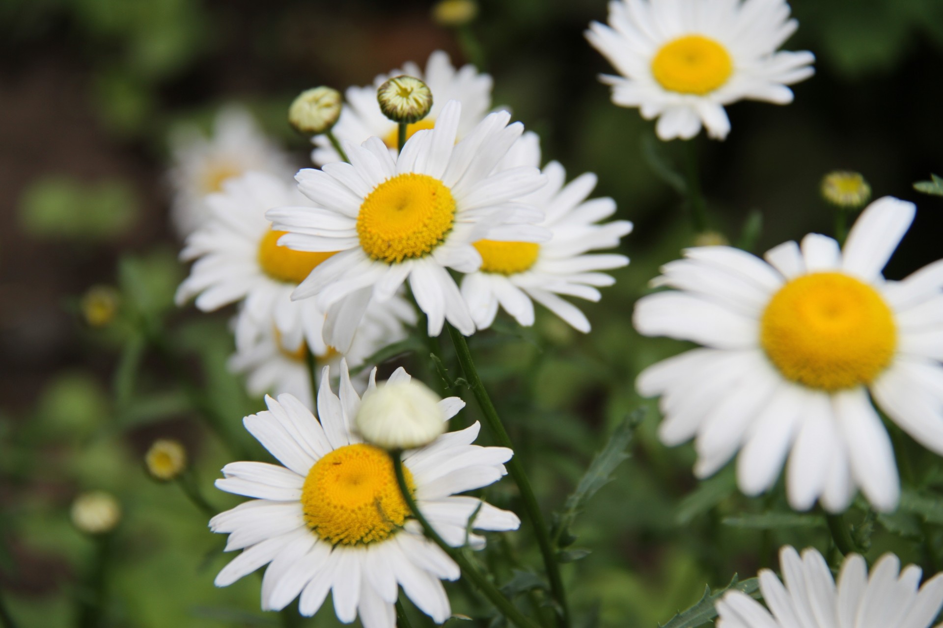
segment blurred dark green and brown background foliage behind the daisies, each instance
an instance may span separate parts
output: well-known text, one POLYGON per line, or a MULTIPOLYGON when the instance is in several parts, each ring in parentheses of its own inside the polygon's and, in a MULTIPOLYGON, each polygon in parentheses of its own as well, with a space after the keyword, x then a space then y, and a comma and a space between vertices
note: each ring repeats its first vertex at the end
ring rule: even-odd
MULTIPOLYGON (((713 226, 735 242, 746 228, 756 251, 828 233, 819 180, 855 169, 875 197, 918 202, 887 269, 900 278, 941 253, 943 200, 911 185, 943 169, 943 3, 791 5, 801 25, 786 48, 813 51, 817 74, 795 87, 793 105, 730 107, 727 141, 699 138, 713 226)), ((74 625, 98 541, 74 529, 69 505, 93 489, 114 493, 124 511, 109 540, 116 557, 102 625, 281 625, 258 611, 257 578, 212 586, 223 539, 184 492, 142 467, 154 439, 180 440, 196 485, 222 509, 238 500, 211 481, 230 452, 264 456, 240 426, 260 400, 224 366, 233 349, 229 312, 197 315, 173 304, 186 269, 167 219, 166 138, 181 121, 208 128, 219 105, 238 101, 301 166, 307 144, 290 133, 285 112, 302 89, 365 85, 405 60, 424 64, 437 48, 467 60, 429 9, 379 0, 0 0, 0 596, 21 625, 74 625), (110 287, 117 313, 101 328, 82 315, 83 295, 96 285, 110 287)), ((582 32, 605 14, 602 0, 484 0, 472 24, 495 78, 495 105, 537 131, 545 158, 571 176, 598 173, 597 193, 613 196, 620 217, 636 223, 623 246, 632 265, 585 308, 592 333, 543 313, 534 330, 505 322, 476 335, 472 348, 548 512, 622 417, 639 404, 649 409, 632 458, 578 518, 574 547, 589 553, 565 574, 580 625, 654 626, 696 602, 704 584, 774 566, 780 544, 824 550, 828 537, 819 515, 788 514, 781 487, 759 499, 738 495, 732 465, 695 481, 691 447, 660 445, 654 406, 634 392, 640 368, 681 344, 638 337, 633 303, 694 233, 669 181, 683 147, 653 142, 652 124, 611 105, 596 80, 610 69, 582 32)), ((396 363, 428 369, 416 356, 396 363)), ((476 415, 472 406, 464 421, 476 415)), ((901 441, 915 467, 938 468, 901 441)), ((869 556, 894 549, 935 572, 941 539, 933 526, 943 508, 934 491, 943 476, 910 483, 898 513, 874 520, 859 507, 849 519, 874 531, 869 556)), ((509 483, 488 494, 515 505, 509 483)), ((539 598, 539 580, 513 575, 519 557, 538 564, 526 533, 494 539, 486 560, 502 582, 517 583, 509 590, 539 598)), ((453 594, 456 612, 481 617, 461 586, 453 594)), ((325 609, 295 625, 335 622, 325 609)))

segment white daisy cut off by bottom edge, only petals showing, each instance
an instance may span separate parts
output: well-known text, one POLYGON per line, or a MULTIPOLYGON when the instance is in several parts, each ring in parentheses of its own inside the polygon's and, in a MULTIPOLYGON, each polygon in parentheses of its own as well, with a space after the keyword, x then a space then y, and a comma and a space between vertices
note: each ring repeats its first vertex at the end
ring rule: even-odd
POLYGON ((943 574, 921 587, 920 568, 901 570, 901 559, 893 554, 881 556, 870 576, 864 558, 846 556, 837 586, 812 548, 800 557, 786 546, 779 558, 785 585, 775 573, 759 572, 769 610, 742 591, 729 591, 715 605, 717 628, 929 628, 943 605, 943 574))

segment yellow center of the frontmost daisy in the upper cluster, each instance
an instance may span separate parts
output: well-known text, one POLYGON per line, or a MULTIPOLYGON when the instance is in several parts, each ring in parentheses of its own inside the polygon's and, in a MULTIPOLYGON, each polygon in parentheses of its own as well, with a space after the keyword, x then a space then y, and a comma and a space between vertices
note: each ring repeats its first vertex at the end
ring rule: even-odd
POLYGON ((455 221, 448 187, 426 174, 399 174, 373 188, 360 205, 356 233, 374 260, 422 257, 441 244, 455 221))

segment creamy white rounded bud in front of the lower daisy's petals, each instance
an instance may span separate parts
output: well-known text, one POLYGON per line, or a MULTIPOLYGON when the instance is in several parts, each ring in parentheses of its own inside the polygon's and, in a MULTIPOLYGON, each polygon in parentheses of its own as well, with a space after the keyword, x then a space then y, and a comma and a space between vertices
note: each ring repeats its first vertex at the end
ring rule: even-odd
POLYGON ((364 395, 354 425, 368 443, 384 449, 412 449, 445 431, 438 395, 415 379, 378 384, 364 395))

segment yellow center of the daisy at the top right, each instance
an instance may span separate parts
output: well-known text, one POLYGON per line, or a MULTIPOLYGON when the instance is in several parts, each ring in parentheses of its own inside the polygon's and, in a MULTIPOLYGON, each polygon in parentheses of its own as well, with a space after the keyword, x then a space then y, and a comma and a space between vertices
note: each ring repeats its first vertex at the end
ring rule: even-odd
POLYGON ((652 60, 654 80, 669 91, 704 94, 720 88, 734 72, 726 48, 703 35, 687 35, 666 43, 652 60))

